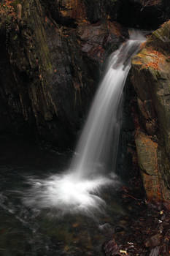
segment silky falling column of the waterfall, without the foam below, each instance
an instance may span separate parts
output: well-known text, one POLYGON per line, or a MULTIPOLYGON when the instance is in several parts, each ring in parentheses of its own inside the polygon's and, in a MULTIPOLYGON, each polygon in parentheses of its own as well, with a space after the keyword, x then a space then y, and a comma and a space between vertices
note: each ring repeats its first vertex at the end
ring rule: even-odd
POLYGON ((131 35, 119 50, 112 53, 107 72, 98 87, 90 108, 88 120, 82 131, 72 159, 71 169, 80 178, 106 172, 112 158, 115 167, 120 133, 121 97, 125 80, 131 68, 131 56, 141 43, 137 32, 131 35), (132 39, 134 37, 137 39, 132 39))

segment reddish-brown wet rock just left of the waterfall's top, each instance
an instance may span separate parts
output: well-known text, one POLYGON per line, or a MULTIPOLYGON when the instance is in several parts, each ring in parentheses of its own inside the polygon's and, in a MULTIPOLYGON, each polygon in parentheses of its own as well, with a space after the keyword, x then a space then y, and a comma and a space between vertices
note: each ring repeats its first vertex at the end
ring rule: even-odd
MULTIPOLYGON (((98 22, 96 24, 80 24, 78 27, 82 52, 93 61, 103 63, 107 54, 117 49, 119 42, 125 39, 125 30, 118 23, 98 22)), ((127 35, 127 34, 126 34, 127 35)))

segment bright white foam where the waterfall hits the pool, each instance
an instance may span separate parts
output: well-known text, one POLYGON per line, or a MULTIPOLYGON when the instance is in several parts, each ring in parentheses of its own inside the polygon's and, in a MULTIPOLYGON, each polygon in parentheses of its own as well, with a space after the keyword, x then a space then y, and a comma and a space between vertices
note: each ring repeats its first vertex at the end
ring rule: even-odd
POLYGON ((46 180, 29 178, 28 183, 31 189, 24 197, 27 206, 57 209, 59 215, 80 212, 93 214, 95 210, 103 210, 105 202, 100 197, 100 189, 114 184, 114 178, 98 176, 77 179, 72 173, 64 173, 46 180))

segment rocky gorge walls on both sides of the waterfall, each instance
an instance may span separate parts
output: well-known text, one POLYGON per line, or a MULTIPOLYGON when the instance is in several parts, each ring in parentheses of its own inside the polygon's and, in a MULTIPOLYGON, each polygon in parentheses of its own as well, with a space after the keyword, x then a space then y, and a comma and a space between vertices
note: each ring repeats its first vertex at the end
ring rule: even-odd
MULTIPOLYGON (((70 145, 103 63, 128 38, 128 27, 157 29, 169 18, 169 0, 1 1, 1 134, 30 132, 63 148, 70 145)), ((132 64, 144 187, 149 200, 168 207, 169 23, 152 34, 132 64)))

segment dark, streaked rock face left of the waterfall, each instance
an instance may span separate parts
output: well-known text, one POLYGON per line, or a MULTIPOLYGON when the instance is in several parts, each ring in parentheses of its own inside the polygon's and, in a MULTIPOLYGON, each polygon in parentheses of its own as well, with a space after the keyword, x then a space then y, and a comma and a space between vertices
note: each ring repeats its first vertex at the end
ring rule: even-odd
POLYGON ((104 59, 124 38, 116 22, 86 17, 79 0, 1 4, 1 131, 34 129, 58 146, 72 140, 104 59))

